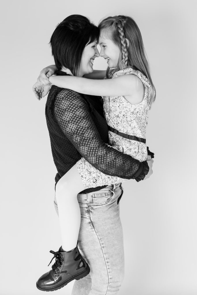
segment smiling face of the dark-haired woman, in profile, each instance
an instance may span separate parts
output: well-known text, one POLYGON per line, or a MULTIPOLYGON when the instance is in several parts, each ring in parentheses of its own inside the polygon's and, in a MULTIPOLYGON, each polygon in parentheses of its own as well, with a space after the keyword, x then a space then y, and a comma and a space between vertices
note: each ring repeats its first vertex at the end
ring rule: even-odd
POLYGON ((93 62, 96 57, 99 57, 97 41, 86 45, 84 48, 79 68, 79 77, 93 72, 93 62))

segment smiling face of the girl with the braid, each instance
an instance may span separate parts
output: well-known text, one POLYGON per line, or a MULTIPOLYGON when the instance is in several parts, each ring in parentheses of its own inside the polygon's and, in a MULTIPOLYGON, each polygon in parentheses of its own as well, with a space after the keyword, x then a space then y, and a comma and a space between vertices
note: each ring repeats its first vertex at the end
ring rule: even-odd
POLYGON ((100 56, 105 58, 109 68, 116 68, 120 57, 120 48, 110 39, 110 32, 100 31, 100 56))

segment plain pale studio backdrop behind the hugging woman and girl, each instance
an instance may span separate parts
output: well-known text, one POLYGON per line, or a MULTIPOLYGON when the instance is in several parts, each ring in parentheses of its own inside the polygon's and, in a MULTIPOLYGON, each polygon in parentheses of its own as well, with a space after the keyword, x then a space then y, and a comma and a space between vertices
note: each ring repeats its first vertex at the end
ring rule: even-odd
MULTIPOLYGON (((61 243, 46 98, 32 93, 40 70, 54 63, 51 34, 70 14, 95 24, 126 14, 141 30, 157 98, 146 137, 154 173, 123 184, 120 295, 196 295, 196 1, 2 1, 0 13, 0 294, 41 294, 35 283, 61 243)), ((72 284, 56 294, 71 294, 72 284)))

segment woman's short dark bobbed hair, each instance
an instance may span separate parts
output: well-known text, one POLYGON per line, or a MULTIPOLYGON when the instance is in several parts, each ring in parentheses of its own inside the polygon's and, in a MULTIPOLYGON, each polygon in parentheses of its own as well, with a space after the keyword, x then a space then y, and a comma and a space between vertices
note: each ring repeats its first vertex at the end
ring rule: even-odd
POLYGON ((85 46, 97 41, 99 29, 87 17, 73 14, 57 25, 51 36, 50 45, 56 67, 68 68, 74 76, 79 73, 85 46))

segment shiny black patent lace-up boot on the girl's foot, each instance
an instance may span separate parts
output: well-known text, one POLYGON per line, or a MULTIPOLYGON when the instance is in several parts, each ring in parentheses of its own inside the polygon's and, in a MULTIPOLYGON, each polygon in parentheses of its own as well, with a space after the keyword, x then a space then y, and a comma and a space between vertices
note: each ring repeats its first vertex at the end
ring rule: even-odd
POLYGON ((56 262, 51 271, 38 279, 36 286, 41 291, 61 289, 72 280, 84 278, 90 272, 89 266, 77 246, 68 252, 63 251, 60 247, 57 252, 51 250, 50 253, 54 254, 53 258, 56 258, 56 262))

